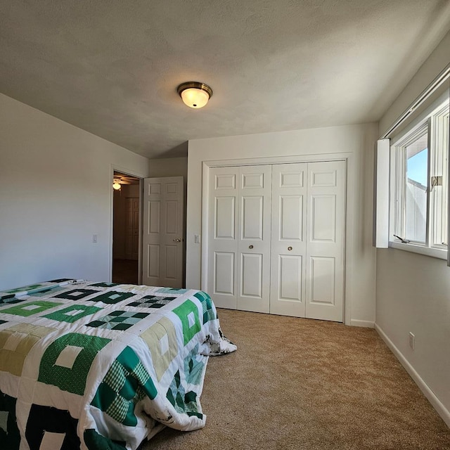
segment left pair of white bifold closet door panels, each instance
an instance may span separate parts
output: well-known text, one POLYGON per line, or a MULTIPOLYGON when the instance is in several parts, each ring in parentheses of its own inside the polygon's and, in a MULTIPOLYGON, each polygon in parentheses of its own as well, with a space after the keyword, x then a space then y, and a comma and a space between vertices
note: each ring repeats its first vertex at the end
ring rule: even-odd
POLYGON ((218 307, 269 312, 271 166, 210 169, 207 290, 218 307))

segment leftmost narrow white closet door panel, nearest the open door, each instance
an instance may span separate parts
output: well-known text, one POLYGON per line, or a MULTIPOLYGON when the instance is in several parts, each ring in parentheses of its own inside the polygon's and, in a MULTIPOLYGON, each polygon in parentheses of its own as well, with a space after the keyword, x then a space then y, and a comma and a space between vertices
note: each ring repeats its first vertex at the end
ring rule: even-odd
POLYGON ((238 167, 210 169, 207 292, 217 307, 236 309, 238 167))

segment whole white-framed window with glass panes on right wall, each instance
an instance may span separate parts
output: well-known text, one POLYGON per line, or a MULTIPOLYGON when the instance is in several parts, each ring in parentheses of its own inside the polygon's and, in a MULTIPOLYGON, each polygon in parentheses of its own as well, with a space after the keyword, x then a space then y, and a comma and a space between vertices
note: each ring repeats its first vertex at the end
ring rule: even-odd
POLYGON ((391 246, 445 258, 449 101, 391 142, 391 246))

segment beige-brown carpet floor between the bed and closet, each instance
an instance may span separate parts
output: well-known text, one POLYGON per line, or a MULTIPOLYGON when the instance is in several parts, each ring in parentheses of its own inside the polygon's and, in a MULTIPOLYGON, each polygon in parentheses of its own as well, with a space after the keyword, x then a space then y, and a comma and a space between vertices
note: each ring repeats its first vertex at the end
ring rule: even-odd
POLYGON ((206 427, 142 450, 450 449, 450 429, 373 329, 219 309, 238 351, 210 358, 206 427))

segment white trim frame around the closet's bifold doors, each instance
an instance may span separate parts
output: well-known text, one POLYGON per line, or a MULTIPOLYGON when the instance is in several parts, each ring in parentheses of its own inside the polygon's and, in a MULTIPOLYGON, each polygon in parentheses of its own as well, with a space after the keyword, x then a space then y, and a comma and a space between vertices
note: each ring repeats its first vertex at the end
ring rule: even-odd
POLYGON ((243 158, 233 160, 211 160, 203 161, 202 164, 202 231, 201 231, 201 289, 207 290, 208 285, 208 217, 209 217, 209 196, 210 196, 210 168, 230 167, 246 165, 274 165, 289 164, 293 162, 326 162, 345 161, 346 166, 346 191, 345 191, 345 279, 344 279, 344 311, 343 322, 351 325, 352 311, 352 291, 349 289, 349 277, 352 267, 352 234, 354 224, 352 218, 356 217, 356 201, 354 193, 354 155, 353 153, 320 153, 311 155, 295 155, 285 157, 268 158, 243 158))

